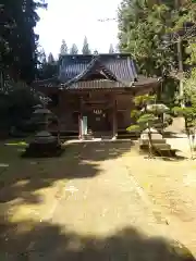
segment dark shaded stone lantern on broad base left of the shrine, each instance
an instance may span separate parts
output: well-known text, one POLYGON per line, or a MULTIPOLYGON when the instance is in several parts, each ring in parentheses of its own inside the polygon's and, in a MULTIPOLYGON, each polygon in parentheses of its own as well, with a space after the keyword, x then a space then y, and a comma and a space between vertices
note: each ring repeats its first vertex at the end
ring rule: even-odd
POLYGON ((50 110, 36 105, 32 120, 36 123, 38 132, 26 148, 26 156, 52 157, 60 154, 62 147, 59 137, 54 137, 48 132, 49 122, 53 119, 56 117, 50 110))

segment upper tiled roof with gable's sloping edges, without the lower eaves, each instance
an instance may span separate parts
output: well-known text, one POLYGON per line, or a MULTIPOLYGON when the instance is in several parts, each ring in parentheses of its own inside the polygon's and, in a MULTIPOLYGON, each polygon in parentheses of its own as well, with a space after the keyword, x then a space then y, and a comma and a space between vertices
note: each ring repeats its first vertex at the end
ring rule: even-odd
POLYGON ((64 55, 60 61, 59 80, 72 84, 101 69, 109 79, 130 85, 137 78, 134 61, 128 54, 64 55))

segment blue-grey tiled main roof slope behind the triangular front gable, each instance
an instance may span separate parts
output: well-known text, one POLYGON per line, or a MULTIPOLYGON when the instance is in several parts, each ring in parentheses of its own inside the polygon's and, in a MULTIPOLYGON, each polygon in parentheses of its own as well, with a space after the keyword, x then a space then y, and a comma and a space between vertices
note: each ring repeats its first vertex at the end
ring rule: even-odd
POLYGON ((135 64, 128 54, 99 54, 97 57, 78 54, 61 58, 59 80, 65 84, 76 78, 89 67, 95 59, 123 83, 130 84, 137 78, 135 64))

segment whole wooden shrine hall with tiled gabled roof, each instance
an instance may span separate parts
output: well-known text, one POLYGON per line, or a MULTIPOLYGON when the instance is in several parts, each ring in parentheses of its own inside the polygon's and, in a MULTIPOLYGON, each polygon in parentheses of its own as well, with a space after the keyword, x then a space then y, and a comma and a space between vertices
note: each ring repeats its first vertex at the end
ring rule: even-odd
POLYGON ((60 58, 58 72, 34 87, 51 98, 60 132, 79 139, 117 138, 132 124, 133 97, 160 85, 158 78, 137 75, 130 54, 66 54, 60 58))

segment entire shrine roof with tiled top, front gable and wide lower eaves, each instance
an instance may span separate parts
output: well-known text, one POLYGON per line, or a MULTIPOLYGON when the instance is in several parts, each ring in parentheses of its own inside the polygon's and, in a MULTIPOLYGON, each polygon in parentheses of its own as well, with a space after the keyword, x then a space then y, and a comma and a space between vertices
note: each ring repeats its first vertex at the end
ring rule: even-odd
POLYGON ((59 75, 34 82, 35 86, 64 89, 151 87, 157 78, 137 75, 135 62, 126 53, 98 55, 65 54, 60 58, 59 75))

